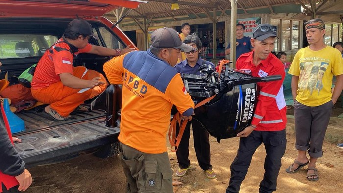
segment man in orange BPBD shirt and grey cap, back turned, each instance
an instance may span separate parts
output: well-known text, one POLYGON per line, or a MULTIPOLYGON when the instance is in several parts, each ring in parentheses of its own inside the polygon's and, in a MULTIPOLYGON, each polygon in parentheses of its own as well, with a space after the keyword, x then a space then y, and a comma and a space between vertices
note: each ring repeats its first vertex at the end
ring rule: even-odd
POLYGON ((118 139, 127 193, 173 193, 166 146, 172 105, 186 119, 194 108, 173 68, 181 50, 189 52, 192 46, 182 43, 174 29, 164 27, 151 34, 149 50, 133 51, 104 65, 109 82, 123 84, 118 139))

